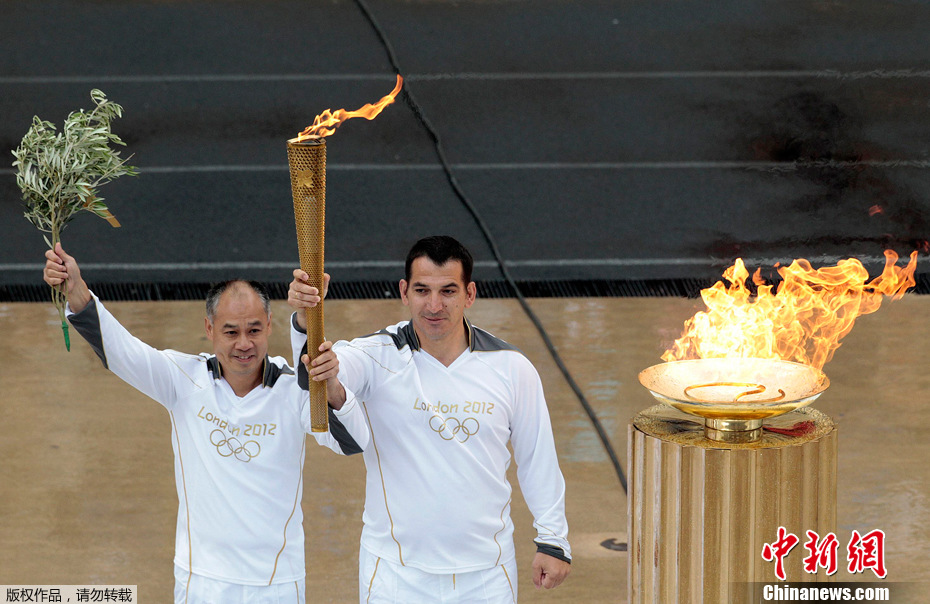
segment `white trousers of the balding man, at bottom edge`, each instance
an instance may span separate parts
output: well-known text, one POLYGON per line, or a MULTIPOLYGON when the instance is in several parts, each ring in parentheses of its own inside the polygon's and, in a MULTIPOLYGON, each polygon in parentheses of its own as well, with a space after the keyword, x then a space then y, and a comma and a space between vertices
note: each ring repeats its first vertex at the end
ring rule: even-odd
POLYGON ((306 604, 306 581, 239 585, 174 567, 174 604, 306 604))

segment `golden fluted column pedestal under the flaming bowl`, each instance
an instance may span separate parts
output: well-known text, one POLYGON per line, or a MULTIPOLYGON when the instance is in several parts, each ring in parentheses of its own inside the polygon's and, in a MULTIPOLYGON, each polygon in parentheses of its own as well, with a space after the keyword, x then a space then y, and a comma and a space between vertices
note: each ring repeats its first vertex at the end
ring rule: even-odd
POLYGON ((631 603, 749 602, 752 583, 774 582, 762 558, 778 527, 798 536, 792 582, 829 580, 803 569, 806 531, 836 532, 836 427, 805 407, 766 420, 753 443, 721 443, 667 405, 629 428, 631 603))

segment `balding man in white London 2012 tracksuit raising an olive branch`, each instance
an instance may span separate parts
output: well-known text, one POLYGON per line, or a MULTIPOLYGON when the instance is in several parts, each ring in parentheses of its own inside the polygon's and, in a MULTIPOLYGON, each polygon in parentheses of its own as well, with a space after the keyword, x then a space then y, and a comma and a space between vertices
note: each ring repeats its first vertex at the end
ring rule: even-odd
MULTIPOLYGON (((44 278, 64 290, 69 321, 104 367, 171 417, 175 603, 304 604, 300 501, 309 399, 285 360, 267 354, 267 292, 241 280, 214 286, 204 320, 213 354, 189 355, 156 350, 130 334, 91 293, 60 243, 46 252, 44 278)), ((320 299, 316 288, 305 290, 306 306, 320 299)), ((305 341, 295 343, 295 358, 305 341)), ((336 382, 331 346, 320 346, 311 379, 336 382)), ((367 447, 370 433, 354 401, 334 402, 329 425, 313 432, 319 444, 344 455, 367 447)))

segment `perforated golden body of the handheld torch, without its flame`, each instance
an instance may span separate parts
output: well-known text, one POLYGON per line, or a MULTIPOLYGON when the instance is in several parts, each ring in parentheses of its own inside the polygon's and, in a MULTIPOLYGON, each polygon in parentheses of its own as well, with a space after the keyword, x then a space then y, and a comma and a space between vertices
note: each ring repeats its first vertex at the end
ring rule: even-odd
MULTIPOLYGON (((291 171, 294 222, 300 268, 310 276, 309 284, 323 291, 323 250, 326 218, 326 142, 311 139, 288 141, 287 163, 291 171)), ((306 309, 307 350, 318 354, 323 335, 323 303, 306 309)), ((329 429, 326 382, 310 381, 310 421, 314 432, 329 429)))

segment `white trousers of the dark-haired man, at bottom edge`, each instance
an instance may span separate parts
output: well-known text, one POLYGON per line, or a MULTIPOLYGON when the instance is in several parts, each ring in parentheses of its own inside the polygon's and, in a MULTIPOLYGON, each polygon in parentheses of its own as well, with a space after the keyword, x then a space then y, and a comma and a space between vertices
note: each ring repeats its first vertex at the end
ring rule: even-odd
POLYGON ((517 561, 470 573, 437 575, 359 551, 360 604, 516 604, 517 561))

